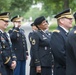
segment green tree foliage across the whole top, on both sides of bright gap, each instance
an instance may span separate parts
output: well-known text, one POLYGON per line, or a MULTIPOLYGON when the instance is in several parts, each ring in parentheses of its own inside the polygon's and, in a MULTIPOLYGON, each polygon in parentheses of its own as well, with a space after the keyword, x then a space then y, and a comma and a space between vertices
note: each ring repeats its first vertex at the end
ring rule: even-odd
POLYGON ((42 14, 45 16, 54 15, 68 7, 73 11, 76 10, 76 0, 0 0, 0 12, 10 11, 12 16, 16 14, 23 16, 32 4, 39 2, 43 4, 42 14))

